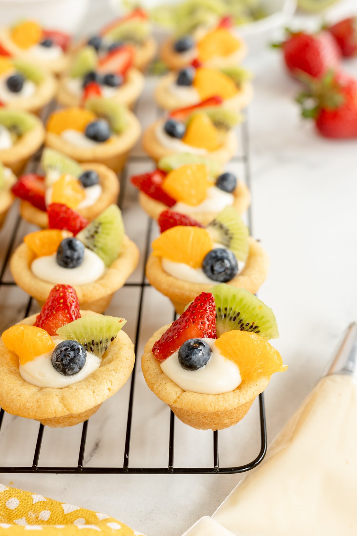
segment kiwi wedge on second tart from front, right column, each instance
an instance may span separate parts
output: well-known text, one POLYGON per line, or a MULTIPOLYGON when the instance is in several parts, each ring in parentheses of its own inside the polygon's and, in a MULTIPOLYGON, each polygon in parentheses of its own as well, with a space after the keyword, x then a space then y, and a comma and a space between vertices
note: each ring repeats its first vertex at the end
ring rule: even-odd
POLYGON ((225 245, 233 251, 237 259, 246 262, 249 251, 249 232, 236 209, 226 206, 208 224, 207 230, 213 242, 225 245))

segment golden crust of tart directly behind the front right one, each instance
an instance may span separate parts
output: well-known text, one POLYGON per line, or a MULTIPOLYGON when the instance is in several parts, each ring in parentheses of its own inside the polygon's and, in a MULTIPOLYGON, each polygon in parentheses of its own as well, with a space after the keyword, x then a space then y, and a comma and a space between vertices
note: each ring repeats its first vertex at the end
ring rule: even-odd
MULTIPOLYGON (((267 252, 259 242, 250 236, 246 265, 240 274, 231 279, 228 284, 245 288, 255 294, 267 278, 268 270, 269 257, 267 252)), ((149 256, 146 264, 146 277, 153 287, 170 298, 178 314, 182 314, 187 303, 201 292, 206 292, 216 285, 215 281, 212 281, 212 284, 191 283, 172 277, 162 269, 161 258, 154 257, 153 254, 149 256)))

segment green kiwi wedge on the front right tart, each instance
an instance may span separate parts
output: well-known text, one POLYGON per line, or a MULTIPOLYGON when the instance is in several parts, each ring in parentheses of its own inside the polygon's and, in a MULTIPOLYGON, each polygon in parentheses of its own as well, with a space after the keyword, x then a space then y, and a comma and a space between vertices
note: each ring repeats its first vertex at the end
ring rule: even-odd
POLYGON ((232 330, 252 331, 264 339, 279 337, 274 312, 254 294, 225 283, 209 292, 216 302, 217 337, 232 330))

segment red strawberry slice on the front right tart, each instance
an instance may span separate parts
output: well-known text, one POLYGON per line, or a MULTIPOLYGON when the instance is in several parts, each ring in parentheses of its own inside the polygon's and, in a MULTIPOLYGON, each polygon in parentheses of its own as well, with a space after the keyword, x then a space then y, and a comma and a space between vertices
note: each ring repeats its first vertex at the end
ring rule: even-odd
POLYGON ((185 312, 165 331, 153 346, 153 354, 164 361, 187 339, 216 339, 216 304, 210 292, 196 296, 185 312))

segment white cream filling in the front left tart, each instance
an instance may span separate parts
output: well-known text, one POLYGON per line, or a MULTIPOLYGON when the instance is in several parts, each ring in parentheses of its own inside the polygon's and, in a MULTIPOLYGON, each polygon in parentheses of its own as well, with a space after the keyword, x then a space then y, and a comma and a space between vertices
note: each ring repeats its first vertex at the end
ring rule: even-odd
MULTIPOLYGON (((63 341, 63 339, 59 337, 52 337, 52 340, 56 346, 63 341)), ((39 355, 32 361, 27 361, 24 365, 20 364, 20 376, 25 382, 37 385, 37 387, 62 388, 80 382, 81 379, 87 378, 100 367, 101 359, 96 355, 87 352, 86 363, 82 370, 73 376, 63 376, 52 365, 51 356, 54 350, 55 348, 50 352, 39 355)))

